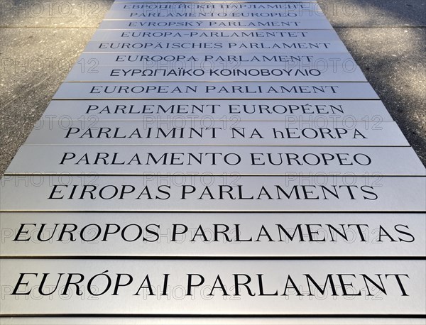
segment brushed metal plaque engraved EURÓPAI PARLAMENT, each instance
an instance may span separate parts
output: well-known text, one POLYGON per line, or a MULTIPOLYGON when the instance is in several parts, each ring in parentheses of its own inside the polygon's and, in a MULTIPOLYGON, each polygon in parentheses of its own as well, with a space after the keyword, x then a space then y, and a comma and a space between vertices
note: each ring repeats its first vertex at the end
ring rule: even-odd
POLYGON ((426 309, 425 263, 4 259, 0 277, 8 291, 0 310, 3 316, 420 316, 426 309), (67 282, 77 285, 65 287, 67 282))

